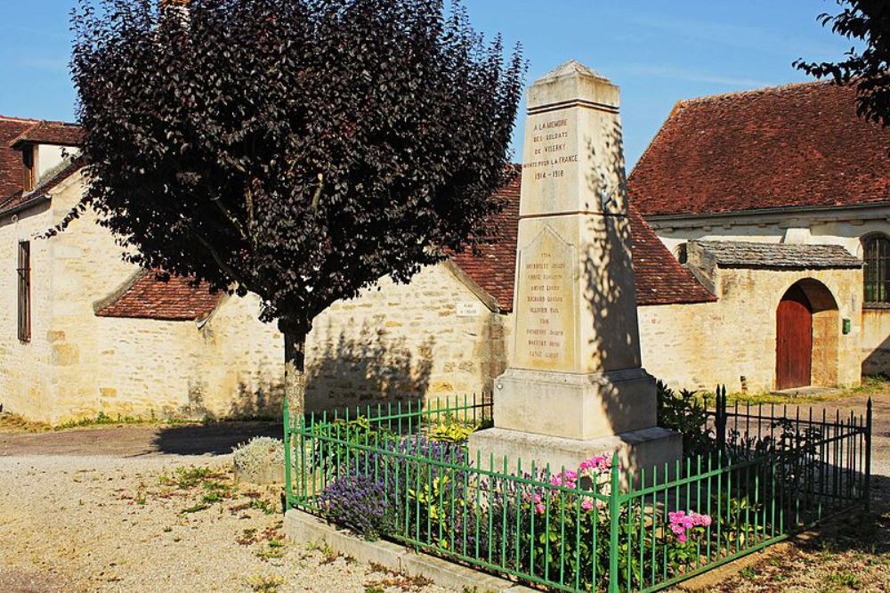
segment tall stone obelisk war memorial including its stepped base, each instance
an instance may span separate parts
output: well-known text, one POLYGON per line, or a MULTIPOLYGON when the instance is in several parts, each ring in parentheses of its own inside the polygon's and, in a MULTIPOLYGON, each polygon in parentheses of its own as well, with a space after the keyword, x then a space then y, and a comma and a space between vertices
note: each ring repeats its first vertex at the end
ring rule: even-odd
POLYGON ((513 363, 471 459, 557 472, 619 451, 623 467, 663 467, 682 443, 656 426, 641 367, 619 89, 570 61, 530 87, 528 110, 513 363))

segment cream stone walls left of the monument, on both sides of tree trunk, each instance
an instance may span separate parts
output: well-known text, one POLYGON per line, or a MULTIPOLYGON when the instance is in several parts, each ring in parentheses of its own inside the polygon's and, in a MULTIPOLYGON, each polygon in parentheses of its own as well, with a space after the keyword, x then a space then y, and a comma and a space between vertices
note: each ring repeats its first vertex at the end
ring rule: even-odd
MULTIPOLYGON (((79 175, 41 207, 0 221, 0 264, 19 238, 59 223, 83 191, 79 175)), ((222 296, 196 321, 97 317, 94 305, 136 268, 92 212, 52 240, 32 240, 32 339, 16 336, 16 276, 0 274, 0 402, 53 423, 104 412, 158 418, 279 413, 283 339, 258 321, 256 296, 222 296)), ((337 303, 308 339, 307 409, 490 391, 506 368, 504 317, 450 264, 410 285, 337 303)))

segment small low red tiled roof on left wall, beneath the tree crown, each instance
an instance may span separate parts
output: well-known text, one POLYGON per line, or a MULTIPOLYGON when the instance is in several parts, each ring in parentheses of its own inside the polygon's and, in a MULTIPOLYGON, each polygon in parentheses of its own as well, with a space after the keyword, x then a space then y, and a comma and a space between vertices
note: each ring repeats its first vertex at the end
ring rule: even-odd
POLYGON ((165 282, 159 280, 155 272, 143 272, 132 286, 97 311, 96 315, 194 321, 213 312, 219 300, 220 295, 213 295, 206 288, 190 286, 189 279, 182 276, 171 276, 165 282))

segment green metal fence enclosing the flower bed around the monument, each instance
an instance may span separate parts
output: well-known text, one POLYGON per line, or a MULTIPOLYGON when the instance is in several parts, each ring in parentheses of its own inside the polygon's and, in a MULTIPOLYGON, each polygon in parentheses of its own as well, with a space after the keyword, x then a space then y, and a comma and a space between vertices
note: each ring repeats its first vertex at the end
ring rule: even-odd
POLYGON ((656 590, 867 503, 870 408, 785 412, 726 410, 718 390, 702 427, 712 451, 622 476, 617 453, 580 472, 471 458, 441 426, 489 422, 475 397, 293 422, 285 410, 287 506, 330 517, 352 505, 382 517, 388 539, 554 590, 656 590))

